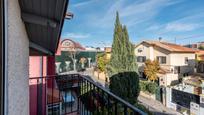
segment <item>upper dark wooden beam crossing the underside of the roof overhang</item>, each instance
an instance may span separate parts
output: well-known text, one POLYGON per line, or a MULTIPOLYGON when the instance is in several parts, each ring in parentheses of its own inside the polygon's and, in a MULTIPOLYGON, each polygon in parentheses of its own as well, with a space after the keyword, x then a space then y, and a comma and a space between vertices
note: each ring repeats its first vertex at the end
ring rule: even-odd
POLYGON ((52 28, 56 28, 59 25, 58 22, 52 19, 48 19, 42 16, 37 16, 37 15, 29 14, 29 13, 22 12, 21 18, 24 22, 27 22, 27 23, 38 24, 42 26, 50 26, 52 28))

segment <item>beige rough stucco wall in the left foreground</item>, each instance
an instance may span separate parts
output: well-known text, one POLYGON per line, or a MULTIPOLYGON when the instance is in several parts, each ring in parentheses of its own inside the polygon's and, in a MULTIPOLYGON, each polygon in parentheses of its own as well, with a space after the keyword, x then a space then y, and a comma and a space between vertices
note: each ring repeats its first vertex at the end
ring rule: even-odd
POLYGON ((18 0, 8 0, 8 115, 29 115, 28 59, 18 0))

